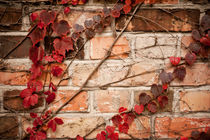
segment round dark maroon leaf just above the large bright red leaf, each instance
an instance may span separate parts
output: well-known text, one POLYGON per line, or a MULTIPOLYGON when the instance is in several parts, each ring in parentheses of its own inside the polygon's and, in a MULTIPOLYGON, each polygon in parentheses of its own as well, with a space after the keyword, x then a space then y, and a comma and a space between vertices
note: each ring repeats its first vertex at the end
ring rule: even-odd
POLYGON ((65 36, 67 33, 70 32, 70 26, 67 21, 60 20, 59 22, 55 22, 52 26, 53 30, 56 32, 59 36, 65 36))

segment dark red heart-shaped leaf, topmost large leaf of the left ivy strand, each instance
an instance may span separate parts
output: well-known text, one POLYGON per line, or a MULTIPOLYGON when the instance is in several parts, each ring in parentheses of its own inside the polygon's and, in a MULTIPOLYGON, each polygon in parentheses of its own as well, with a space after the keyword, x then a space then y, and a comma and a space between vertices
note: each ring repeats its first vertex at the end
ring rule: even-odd
POLYGON ((47 11, 42 10, 40 13, 40 21, 45 25, 49 25, 50 23, 53 23, 56 18, 56 13, 54 11, 47 11))

